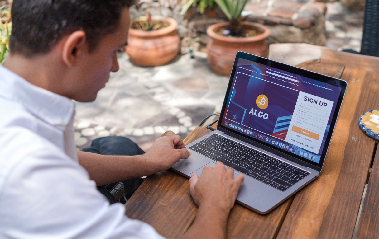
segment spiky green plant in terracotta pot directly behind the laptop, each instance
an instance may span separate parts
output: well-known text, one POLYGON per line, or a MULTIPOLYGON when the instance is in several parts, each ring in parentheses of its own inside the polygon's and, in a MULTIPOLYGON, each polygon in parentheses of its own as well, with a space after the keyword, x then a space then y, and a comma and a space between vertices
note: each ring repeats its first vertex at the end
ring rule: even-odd
MULTIPOLYGON (((182 14, 189 6, 199 3, 198 10, 210 7, 212 0, 183 0, 185 5, 182 14)), ((233 68, 235 55, 238 51, 267 57, 268 47, 265 38, 269 36, 269 29, 259 23, 243 22, 241 13, 249 0, 214 0, 229 22, 216 23, 207 29, 211 37, 207 44, 208 62, 217 73, 229 75, 233 68)))

